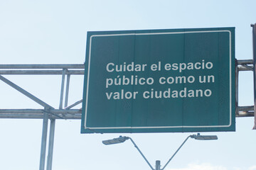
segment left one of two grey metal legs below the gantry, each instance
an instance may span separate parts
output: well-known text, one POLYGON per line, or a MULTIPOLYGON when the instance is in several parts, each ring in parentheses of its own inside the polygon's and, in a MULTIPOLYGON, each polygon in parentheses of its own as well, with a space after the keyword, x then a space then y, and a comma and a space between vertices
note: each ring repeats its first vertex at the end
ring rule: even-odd
POLYGON ((44 170, 46 164, 46 140, 47 140, 47 130, 48 130, 48 113, 43 113, 43 132, 42 132, 42 142, 41 142, 41 157, 39 170, 44 170))

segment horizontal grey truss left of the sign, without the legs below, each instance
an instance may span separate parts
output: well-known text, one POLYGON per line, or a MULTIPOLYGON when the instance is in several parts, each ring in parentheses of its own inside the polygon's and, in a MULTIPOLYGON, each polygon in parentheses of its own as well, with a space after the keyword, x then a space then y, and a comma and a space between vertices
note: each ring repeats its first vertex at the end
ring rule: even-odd
MULTIPOLYGON (((68 106, 68 93, 71 75, 84 75, 84 64, 0 64, 0 80, 4 81, 9 86, 13 87, 21 94, 31 98, 44 109, 0 109, 0 118, 44 118, 44 113, 48 113, 49 119, 80 119, 81 111, 72 109, 74 106, 82 103, 80 101, 68 106), (53 108, 48 103, 42 101, 40 98, 33 96, 33 94, 22 89, 17 84, 9 81, 3 75, 60 75, 61 90, 60 90, 60 106, 58 109, 53 108), (65 88, 65 77, 66 88, 65 88), (63 102, 65 89, 65 102, 63 102), (64 107, 63 107, 64 104, 64 107)), ((81 84, 82 86, 82 84, 81 84)))

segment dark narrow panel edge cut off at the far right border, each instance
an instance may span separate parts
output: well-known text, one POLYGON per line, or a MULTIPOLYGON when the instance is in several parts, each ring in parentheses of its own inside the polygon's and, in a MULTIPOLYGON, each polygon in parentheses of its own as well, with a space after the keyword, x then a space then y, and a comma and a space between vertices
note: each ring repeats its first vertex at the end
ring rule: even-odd
POLYGON ((252 47, 253 47, 253 81, 254 81, 254 113, 255 124, 253 130, 256 130, 256 23, 252 24, 252 47))

